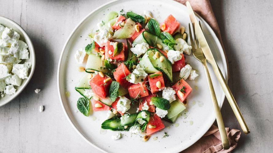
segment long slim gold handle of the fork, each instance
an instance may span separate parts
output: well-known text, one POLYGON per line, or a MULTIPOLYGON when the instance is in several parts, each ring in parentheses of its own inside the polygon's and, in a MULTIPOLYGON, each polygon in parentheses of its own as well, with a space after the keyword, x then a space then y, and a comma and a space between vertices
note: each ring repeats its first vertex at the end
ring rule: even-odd
POLYGON ((208 82, 208 86, 210 89, 210 96, 211 96, 211 100, 212 100, 212 104, 213 104, 213 109, 214 109, 214 113, 216 116, 216 121, 217 121, 217 125, 219 128, 219 132, 220 132, 220 136, 221 136, 221 140, 222 140, 222 144, 223 144, 223 148, 224 149, 229 149, 229 140, 227 137, 227 133, 225 131, 225 125, 224 125, 224 121, 221 115, 221 111, 216 99, 216 95, 214 92, 214 88, 213 88, 213 84, 210 78, 210 73, 209 73, 209 69, 206 63, 206 60, 202 61, 204 70, 205 70, 205 74, 206 74, 206 78, 207 78, 207 82, 208 82))

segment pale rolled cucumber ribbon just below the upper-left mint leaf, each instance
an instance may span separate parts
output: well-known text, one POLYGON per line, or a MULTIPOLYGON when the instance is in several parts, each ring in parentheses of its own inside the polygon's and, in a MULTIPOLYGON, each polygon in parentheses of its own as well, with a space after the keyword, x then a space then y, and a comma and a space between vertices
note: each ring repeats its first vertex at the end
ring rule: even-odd
POLYGON ((90 54, 87 59, 85 72, 94 73, 92 71, 102 71, 103 73, 109 74, 111 71, 105 68, 104 62, 96 54, 90 54))

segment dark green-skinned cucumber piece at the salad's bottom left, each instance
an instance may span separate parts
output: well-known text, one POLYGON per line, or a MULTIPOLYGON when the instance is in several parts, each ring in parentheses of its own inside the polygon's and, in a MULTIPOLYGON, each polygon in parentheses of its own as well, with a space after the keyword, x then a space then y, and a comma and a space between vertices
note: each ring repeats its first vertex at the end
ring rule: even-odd
POLYGON ((129 127, 124 129, 123 126, 121 126, 121 120, 119 118, 110 118, 102 123, 102 129, 109 129, 113 131, 129 131, 129 127))

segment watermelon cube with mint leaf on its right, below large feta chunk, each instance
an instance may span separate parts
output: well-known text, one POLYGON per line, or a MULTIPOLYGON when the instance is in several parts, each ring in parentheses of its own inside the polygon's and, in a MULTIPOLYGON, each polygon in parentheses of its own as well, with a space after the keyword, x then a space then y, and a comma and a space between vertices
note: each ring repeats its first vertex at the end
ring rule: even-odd
MULTIPOLYGON (((113 42, 112 42, 113 43, 113 42)), ((125 54, 124 54, 124 43, 123 44, 123 49, 121 50, 121 52, 115 56, 113 56, 114 53, 114 46, 112 45, 112 43, 110 41, 108 41, 105 45, 105 59, 112 59, 112 60, 117 60, 117 61, 124 61, 125 59, 125 54), (109 54, 109 51, 111 51, 109 54)))

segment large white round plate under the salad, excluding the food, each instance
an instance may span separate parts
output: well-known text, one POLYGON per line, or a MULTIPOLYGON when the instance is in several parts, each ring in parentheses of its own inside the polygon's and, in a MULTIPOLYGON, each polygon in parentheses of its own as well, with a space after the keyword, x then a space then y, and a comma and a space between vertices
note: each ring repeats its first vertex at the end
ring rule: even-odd
MULTIPOLYGON (((120 140, 112 140, 111 136, 117 132, 108 130, 106 133, 100 133, 101 123, 105 120, 106 112, 91 113, 89 117, 85 117, 80 112, 77 112, 76 103, 81 97, 74 89, 75 84, 84 72, 78 72, 78 67, 74 59, 75 51, 78 48, 84 48, 90 43, 88 33, 96 24, 101 22, 105 15, 110 11, 119 12, 121 9, 125 11, 133 10, 138 14, 142 14, 144 10, 150 10, 153 17, 160 23, 169 15, 172 14, 184 27, 190 22, 186 6, 173 0, 157 1, 157 0, 119 0, 111 1, 100 6, 92 11, 87 17, 79 23, 79 25, 71 33, 67 42, 63 47, 60 57, 58 69, 58 88, 61 105, 71 125, 89 144, 93 145, 100 151, 104 152, 179 152, 204 135, 215 121, 215 115, 210 99, 210 93, 206 82, 206 76, 203 71, 202 64, 198 62, 193 55, 186 56, 186 62, 194 69, 198 69, 200 75, 196 80, 186 80, 193 88, 192 93, 188 97, 188 106, 186 114, 179 117, 175 124, 170 124, 164 121, 165 126, 170 126, 170 129, 165 128, 161 132, 152 135, 148 142, 142 142, 140 135, 122 132, 124 136, 120 140), (197 87, 196 87, 197 86, 197 87), (71 95, 67 97, 65 92, 69 91, 71 95), (95 121, 93 119, 96 118, 95 121), (170 136, 163 137, 163 132, 167 132, 170 136), (157 140, 153 137, 158 136, 157 140)), ((202 21, 202 27, 208 43, 213 52, 214 58, 227 78, 227 65, 221 44, 209 25, 198 16, 202 21)), ((188 32, 188 28, 186 28, 188 32)), ((84 66, 84 65, 83 65, 84 66)), ((217 83, 216 76, 210 68, 210 74, 213 80, 214 89, 218 99, 218 103, 222 106, 225 95, 217 83)))

